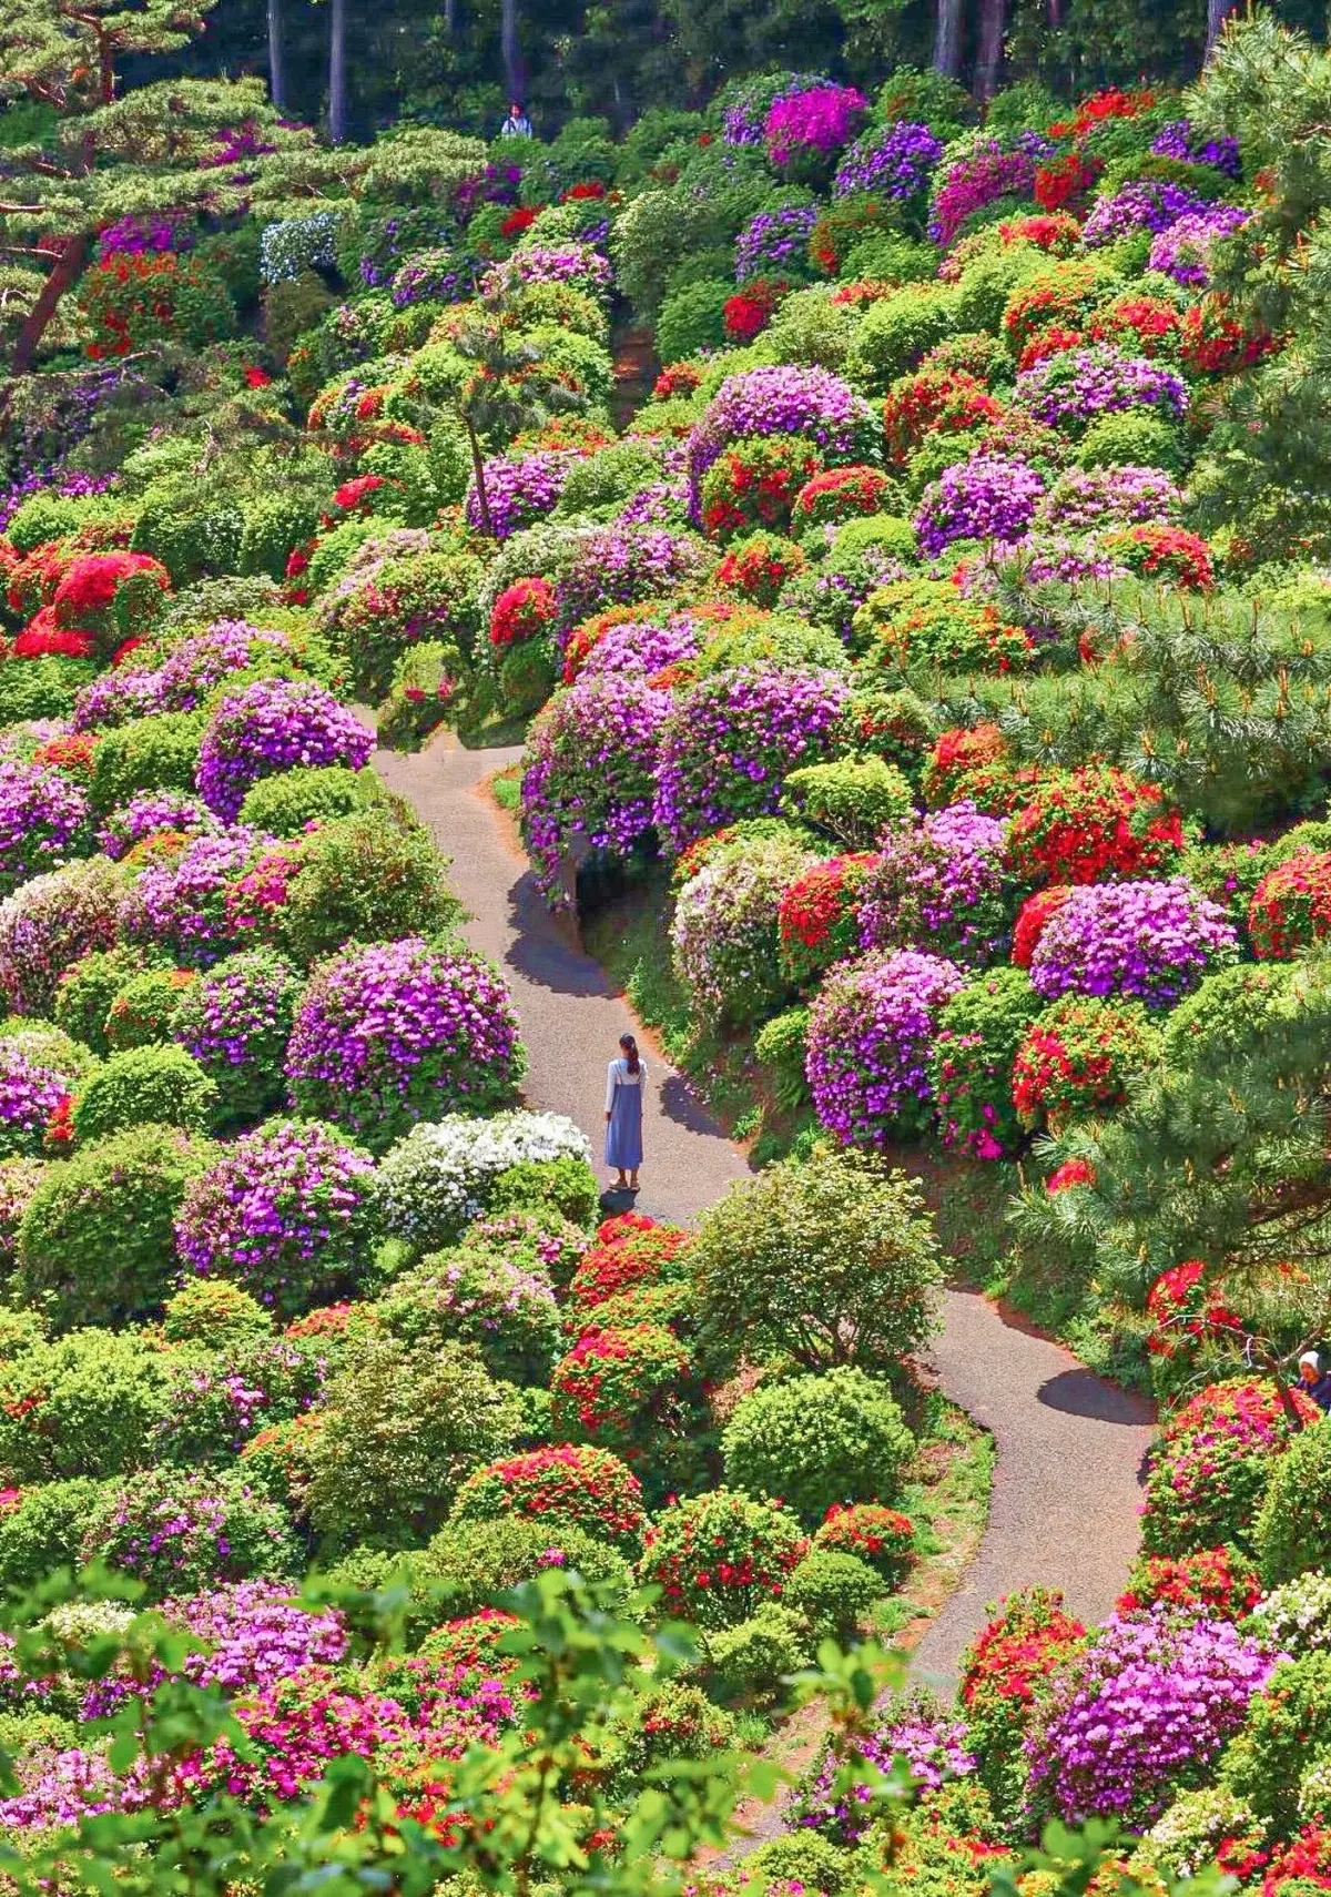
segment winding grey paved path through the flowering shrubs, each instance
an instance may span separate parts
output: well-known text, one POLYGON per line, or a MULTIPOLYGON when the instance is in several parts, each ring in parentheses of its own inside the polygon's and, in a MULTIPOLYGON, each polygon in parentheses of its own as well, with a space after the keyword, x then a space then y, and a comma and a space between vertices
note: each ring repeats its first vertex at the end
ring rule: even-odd
MULTIPOLYGON (((472 911, 468 939, 504 969, 531 1057, 533 1106, 601 1127, 605 1062, 626 1030, 643 1034, 599 964, 546 911, 510 827, 478 785, 520 753, 463 751, 451 738, 375 764, 453 859, 451 882, 472 911)), ((694 1224, 745 1178, 747 1165, 656 1055, 647 1104, 641 1210, 694 1224)), ((912 1660, 942 1692, 984 1620, 986 1601, 1045 1582, 1085 1620, 1109 1612, 1138 1550, 1140 1474, 1151 1409, 1094 1377, 1067 1351, 1007 1320, 976 1292, 950 1290, 931 1358, 948 1396, 995 1446, 990 1521, 912 1660)))

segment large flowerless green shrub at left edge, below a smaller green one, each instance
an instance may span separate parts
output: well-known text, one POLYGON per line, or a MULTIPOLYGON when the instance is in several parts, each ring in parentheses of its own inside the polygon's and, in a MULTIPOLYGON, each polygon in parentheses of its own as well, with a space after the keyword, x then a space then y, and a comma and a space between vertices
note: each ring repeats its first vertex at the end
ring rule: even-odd
POLYGON ((19 1288, 57 1328, 150 1315, 176 1271, 174 1218, 209 1148, 133 1127, 53 1167, 19 1225, 19 1288))

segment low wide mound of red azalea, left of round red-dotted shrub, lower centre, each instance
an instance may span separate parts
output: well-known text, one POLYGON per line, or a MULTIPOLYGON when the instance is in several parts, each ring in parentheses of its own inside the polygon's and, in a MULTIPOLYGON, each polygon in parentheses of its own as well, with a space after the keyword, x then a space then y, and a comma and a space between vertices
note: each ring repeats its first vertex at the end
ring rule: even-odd
POLYGON ((622 1554, 637 1556, 647 1529, 643 1487, 618 1455, 561 1442, 489 1463, 466 1478, 453 1521, 520 1516, 552 1531, 584 1529, 622 1554))

